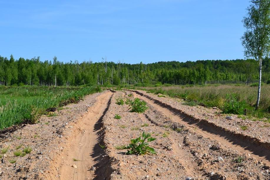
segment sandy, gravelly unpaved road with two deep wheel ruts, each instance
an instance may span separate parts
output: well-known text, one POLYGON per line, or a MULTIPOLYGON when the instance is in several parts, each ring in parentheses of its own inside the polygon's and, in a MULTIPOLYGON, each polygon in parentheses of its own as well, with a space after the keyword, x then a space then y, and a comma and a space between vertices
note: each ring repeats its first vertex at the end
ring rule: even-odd
POLYGON ((218 110, 134 90, 88 95, 56 113, 1 137, 8 151, 0 179, 270 179, 264 122, 227 122, 218 110), (130 112, 136 97, 147 102, 144 113, 130 112), (117 105, 117 98, 126 103, 117 105), (245 123, 248 131, 239 130, 245 123), (157 154, 119 149, 143 132, 156 138, 149 146, 157 154), (29 154, 14 155, 28 146, 29 154))

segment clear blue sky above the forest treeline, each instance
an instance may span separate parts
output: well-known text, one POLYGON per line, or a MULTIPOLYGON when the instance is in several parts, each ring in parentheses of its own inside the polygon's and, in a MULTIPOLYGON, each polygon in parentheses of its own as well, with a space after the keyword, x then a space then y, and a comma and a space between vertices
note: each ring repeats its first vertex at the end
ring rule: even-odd
POLYGON ((0 0, 0 55, 126 63, 244 58, 248 0, 0 0))

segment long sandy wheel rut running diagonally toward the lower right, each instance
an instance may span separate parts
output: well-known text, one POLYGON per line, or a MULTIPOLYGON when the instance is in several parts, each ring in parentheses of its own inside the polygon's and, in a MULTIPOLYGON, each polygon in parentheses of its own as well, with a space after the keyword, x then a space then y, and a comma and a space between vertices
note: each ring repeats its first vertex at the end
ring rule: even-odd
POLYGON ((169 105, 163 105, 158 100, 147 97, 141 94, 140 92, 137 91, 131 92, 133 93, 134 97, 138 97, 140 99, 145 100, 147 103, 163 112, 166 116, 171 117, 173 121, 180 122, 183 125, 186 125, 191 128, 196 128, 196 132, 198 134, 201 134, 204 137, 210 139, 214 139, 222 144, 226 144, 228 147, 231 147, 232 149, 237 150, 239 152, 249 153, 252 155, 252 157, 262 160, 265 164, 270 164, 269 150, 257 146, 256 144, 252 144, 249 141, 233 137, 232 134, 226 134, 212 127, 208 127, 203 123, 195 122, 191 118, 185 117, 180 111, 175 110, 169 105))

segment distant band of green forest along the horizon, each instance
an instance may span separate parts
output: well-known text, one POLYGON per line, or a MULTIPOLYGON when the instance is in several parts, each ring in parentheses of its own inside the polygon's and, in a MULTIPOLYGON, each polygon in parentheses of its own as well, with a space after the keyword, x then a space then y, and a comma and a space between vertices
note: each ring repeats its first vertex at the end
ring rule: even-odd
MULTIPOLYGON (((59 62, 0 56, 0 85, 126 85, 169 83, 177 85, 207 83, 245 83, 259 78, 259 64, 253 60, 197 60, 150 64, 92 61, 59 62)), ((264 59, 262 81, 270 83, 270 59, 264 59)))

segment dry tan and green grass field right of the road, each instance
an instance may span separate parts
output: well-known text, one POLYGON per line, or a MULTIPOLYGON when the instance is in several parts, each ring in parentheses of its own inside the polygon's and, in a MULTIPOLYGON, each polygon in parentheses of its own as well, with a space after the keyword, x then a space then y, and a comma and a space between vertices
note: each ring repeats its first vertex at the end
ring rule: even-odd
POLYGON ((256 86, 246 85, 160 85, 158 87, 130 87, 186 100, 187 105, 203 103, 223 112, 270 119, 270 85, 261 88, 259 110, 255 110, 256 86))

